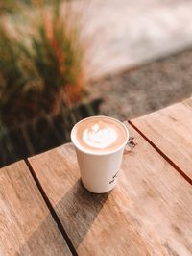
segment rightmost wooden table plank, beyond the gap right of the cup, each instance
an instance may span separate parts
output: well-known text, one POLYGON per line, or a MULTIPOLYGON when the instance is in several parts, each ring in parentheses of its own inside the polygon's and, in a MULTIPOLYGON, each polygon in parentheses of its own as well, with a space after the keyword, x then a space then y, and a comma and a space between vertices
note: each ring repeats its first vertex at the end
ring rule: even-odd
POLYGON ((132 124, 178 166, 192 183, 192 98, 133 119, 132 124))

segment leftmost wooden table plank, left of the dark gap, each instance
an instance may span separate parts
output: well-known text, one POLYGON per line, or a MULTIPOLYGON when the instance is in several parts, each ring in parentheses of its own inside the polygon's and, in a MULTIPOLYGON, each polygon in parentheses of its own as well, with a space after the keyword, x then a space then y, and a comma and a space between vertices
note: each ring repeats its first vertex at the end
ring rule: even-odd
POLYGON ((0 169, 0 255, 71 255, 23 161, 0 169))

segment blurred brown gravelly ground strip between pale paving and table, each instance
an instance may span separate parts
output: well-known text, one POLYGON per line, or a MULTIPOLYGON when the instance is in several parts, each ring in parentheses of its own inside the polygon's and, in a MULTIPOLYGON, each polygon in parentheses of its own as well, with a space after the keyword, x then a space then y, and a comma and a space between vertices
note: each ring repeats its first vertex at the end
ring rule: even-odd
POLYGON ((88 85, 90 98, 101 97, 101 115, 120 120, 154 112, 192 96, 192 48, 110 74, 88 85))

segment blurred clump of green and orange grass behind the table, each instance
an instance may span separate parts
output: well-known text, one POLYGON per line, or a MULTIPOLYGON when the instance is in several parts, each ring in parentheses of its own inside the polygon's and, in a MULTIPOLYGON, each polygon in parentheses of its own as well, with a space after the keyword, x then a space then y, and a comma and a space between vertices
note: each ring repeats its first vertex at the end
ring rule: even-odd
POLYGON ((70 5, 63 14, 62 1, 50 2, 33 1, 33 9, 22 5, 19 15, 1 18, 0 113, 6 124, 58 115, 84 91, 80 27, 69 18, 70 5))

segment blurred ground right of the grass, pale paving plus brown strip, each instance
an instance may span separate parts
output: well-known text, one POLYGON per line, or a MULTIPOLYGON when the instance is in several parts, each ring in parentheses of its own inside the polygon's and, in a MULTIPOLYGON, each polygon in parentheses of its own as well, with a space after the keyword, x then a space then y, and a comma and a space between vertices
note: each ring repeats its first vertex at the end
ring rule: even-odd
POLYGON ((192 1, 84 3, 87 90, 103 99, 100 114, 131 119, 192 95, 192 1))

